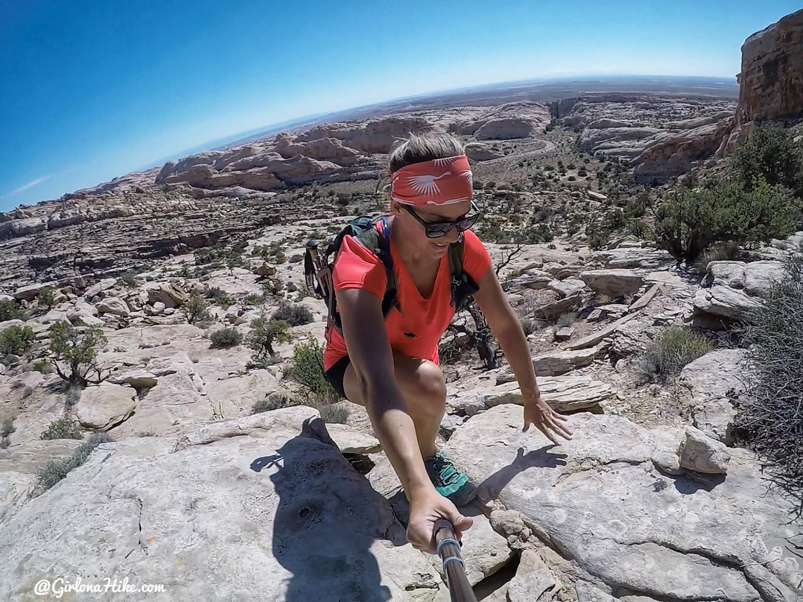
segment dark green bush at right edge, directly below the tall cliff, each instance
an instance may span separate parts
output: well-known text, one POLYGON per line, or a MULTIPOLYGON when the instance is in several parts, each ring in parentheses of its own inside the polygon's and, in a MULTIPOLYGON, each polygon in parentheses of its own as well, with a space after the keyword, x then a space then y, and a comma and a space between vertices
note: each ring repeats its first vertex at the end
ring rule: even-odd
POLYGON ((797 144, 787 129, 756 129, 747 144, 733 153, 732 162, 745 189, 765 181, 803 196, 803 145, 797 144))

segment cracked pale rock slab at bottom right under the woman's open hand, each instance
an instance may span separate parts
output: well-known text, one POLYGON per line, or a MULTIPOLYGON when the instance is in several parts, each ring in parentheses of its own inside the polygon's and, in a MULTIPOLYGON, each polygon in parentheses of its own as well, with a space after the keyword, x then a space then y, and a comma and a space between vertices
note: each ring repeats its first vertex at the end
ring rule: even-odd
POLYGON ((732 449, 728 477, 706 486, 655 468, 653 457, 674 454, 682 429, 581 413, 569 417, 573 441, 553 447, 522 433, 520 421, 514 406, 491 408, 446 449, 572 559, 581 581, 656 600, 781 602, 803 593, 799 561, 785 547, 789 502, 767 494, 748 452, 732 449))

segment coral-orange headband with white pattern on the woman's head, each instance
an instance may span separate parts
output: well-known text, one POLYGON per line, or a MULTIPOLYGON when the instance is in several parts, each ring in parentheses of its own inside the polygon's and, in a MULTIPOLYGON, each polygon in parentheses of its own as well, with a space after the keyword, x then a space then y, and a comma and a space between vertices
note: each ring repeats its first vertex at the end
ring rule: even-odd
POLYGON ((390 197, 405 205, 471 201, 471 167, 465 155, 406 165, 390 177, 390 197))

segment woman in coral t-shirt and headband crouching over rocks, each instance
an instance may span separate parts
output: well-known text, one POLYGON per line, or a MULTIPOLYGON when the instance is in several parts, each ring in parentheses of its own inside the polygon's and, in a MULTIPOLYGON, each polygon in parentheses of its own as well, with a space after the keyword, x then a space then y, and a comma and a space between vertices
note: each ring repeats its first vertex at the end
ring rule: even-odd
POLYGON ((410 136, 393 148, 389 171, 390 214, 376 222, 373 238, 385 245, 385 254, 345 236, 333 263, 337 327, 330 320, 324 369, 343 397, 368 411, 410 501, 407 537, 434 553, 435 520, 449 519, 458 533, 471 527, 472 519, 455 505, 475 494, 467 475, 435 443, 446 404, 438 340, 454 315, 456 289, 458 296, 461 288, 475 291, 520 384, 524 430, 536 425, 554 443, 572 433, 562 424, 566 418, 540 398, 524 332, 487 250, 471 231, 479 214, 463 145, 448 135, 410 136), (450 246, 462 256, 450 258, 450 246), (462 278, 455 278, 455 262, 462 278))

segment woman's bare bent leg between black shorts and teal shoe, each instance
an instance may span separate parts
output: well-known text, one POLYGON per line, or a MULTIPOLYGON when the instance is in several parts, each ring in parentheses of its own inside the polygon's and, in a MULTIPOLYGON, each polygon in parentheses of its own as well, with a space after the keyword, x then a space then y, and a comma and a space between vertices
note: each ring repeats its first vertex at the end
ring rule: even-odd
MULTIPOLYGON (((418 447, 423 458, 431 458, 438 451, 438 436, 443 412, 446 409, 446 381, 441 368, 429 360, 393 354, 396 382, 413 419, 418 447)), ((365 406, 360 383, 353 365, 349 364, 343 377, 343 388, 349 401, 365 406)))

